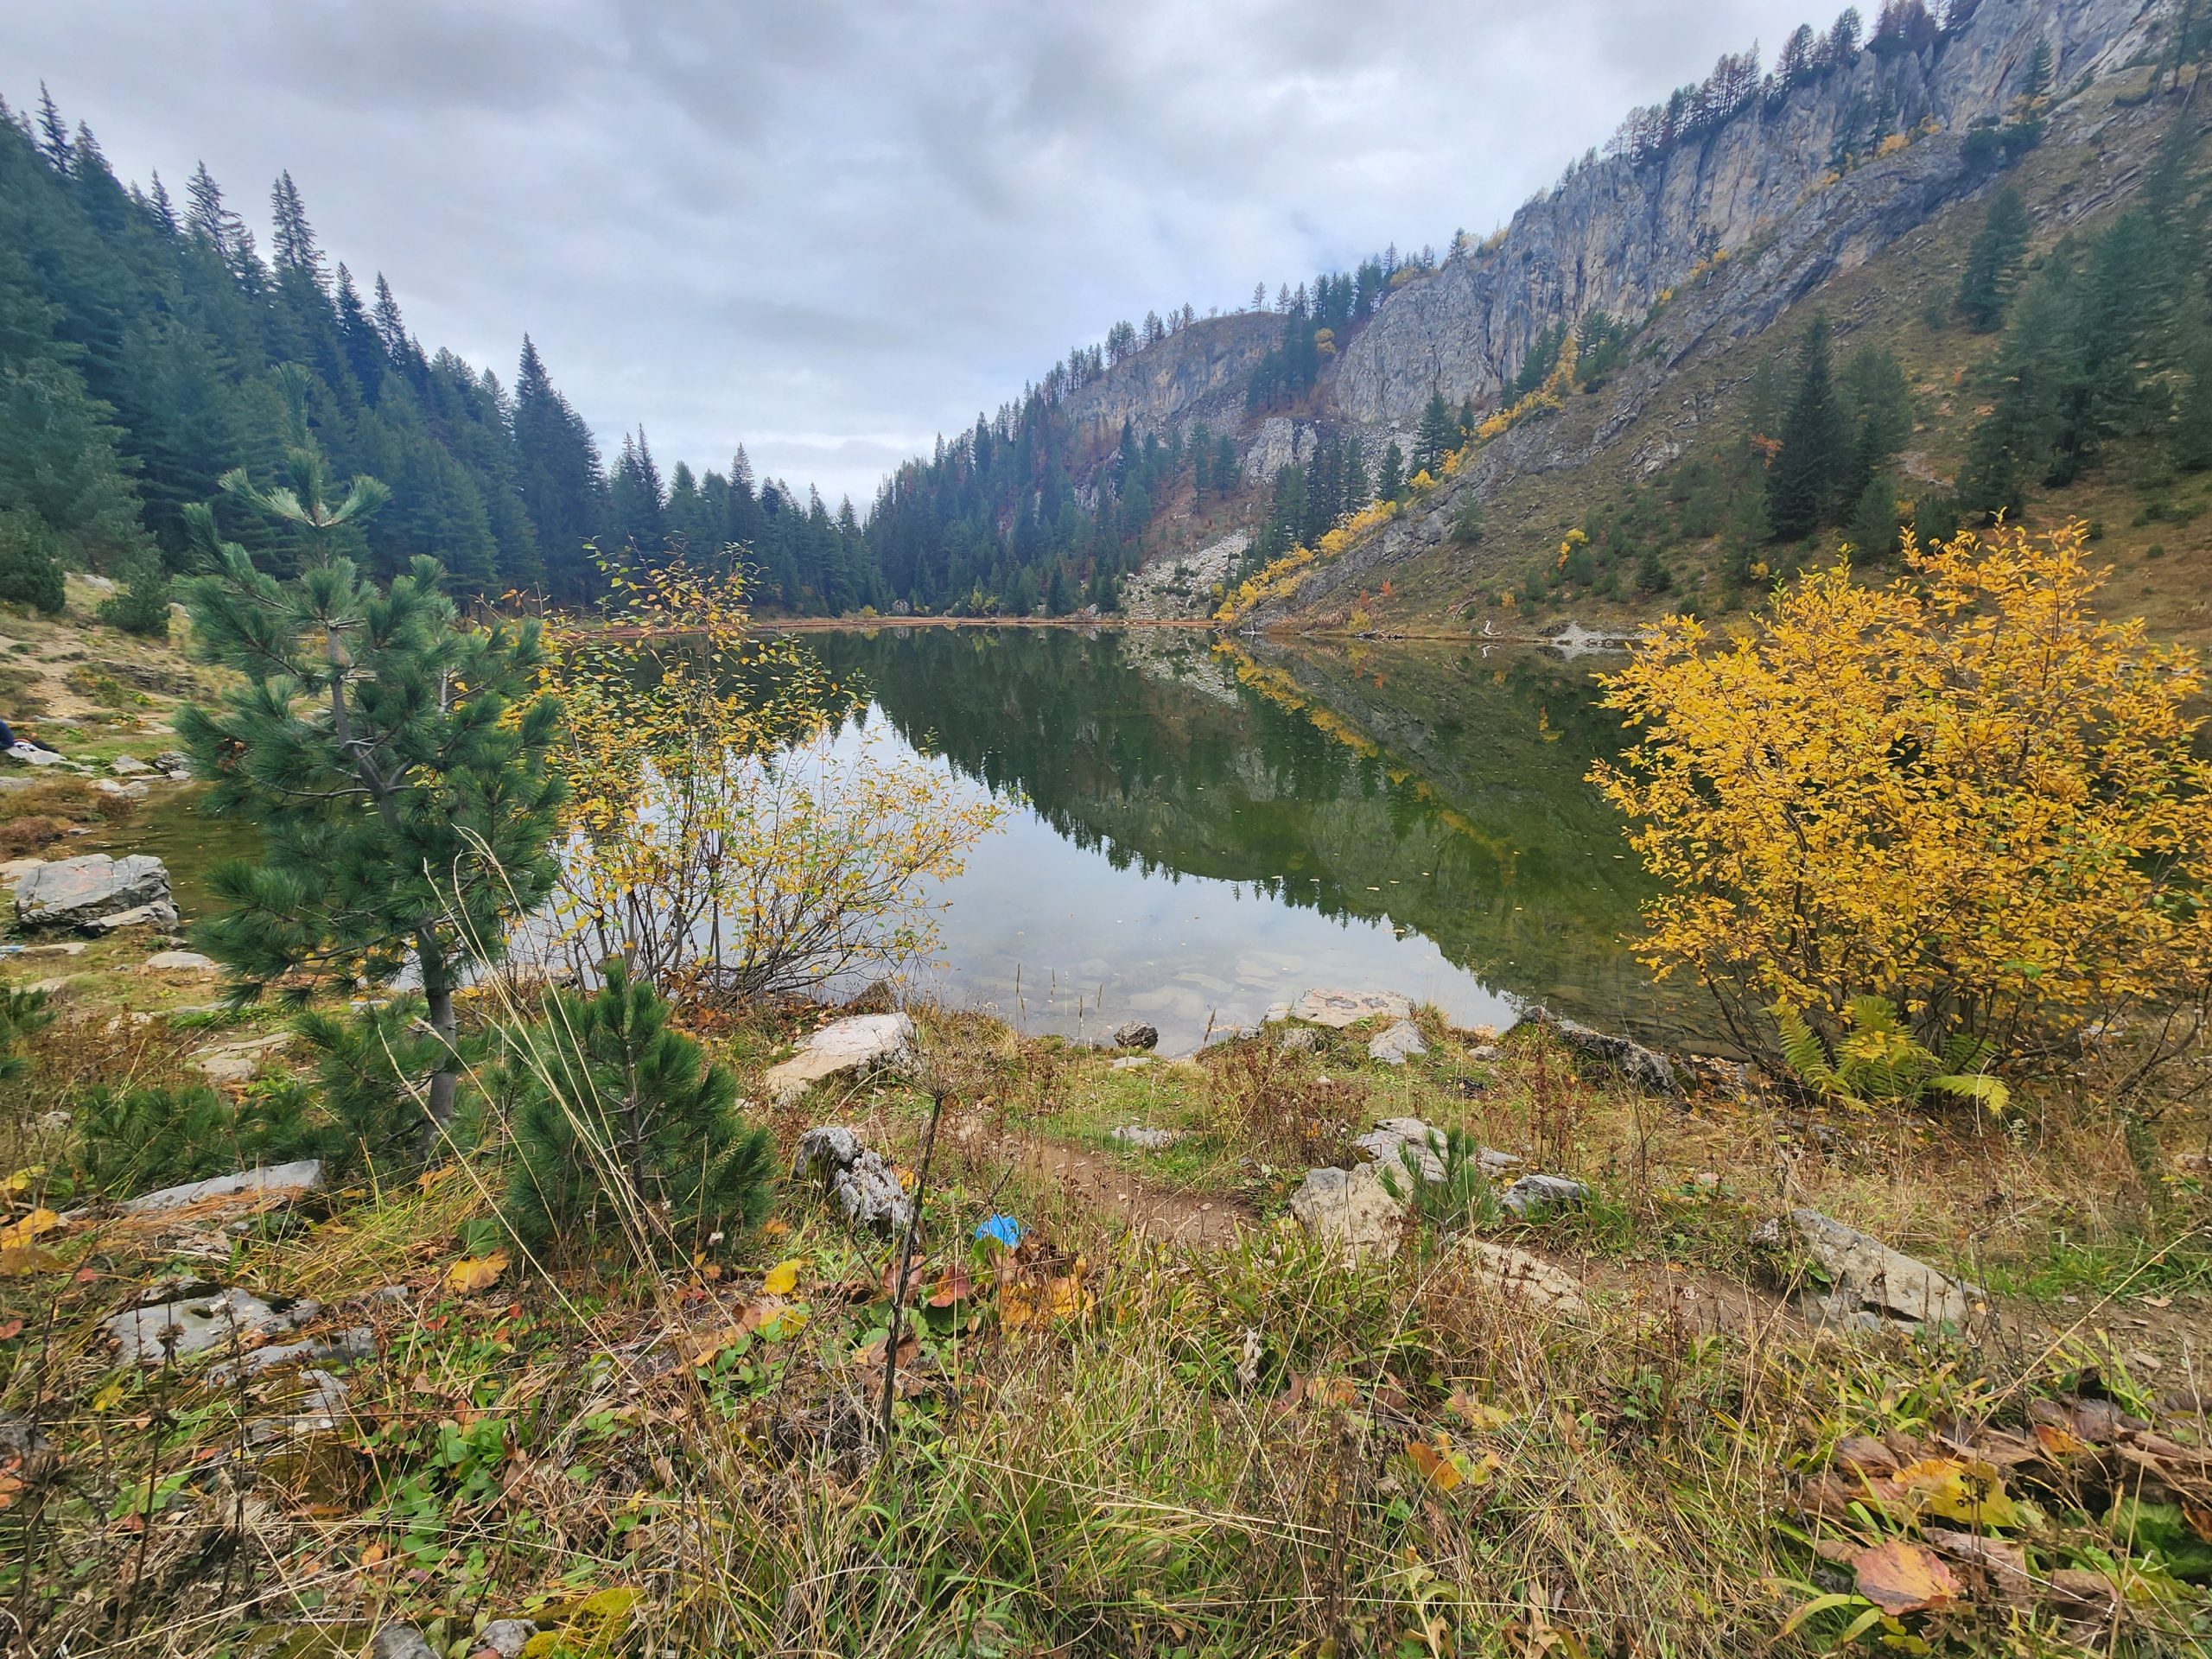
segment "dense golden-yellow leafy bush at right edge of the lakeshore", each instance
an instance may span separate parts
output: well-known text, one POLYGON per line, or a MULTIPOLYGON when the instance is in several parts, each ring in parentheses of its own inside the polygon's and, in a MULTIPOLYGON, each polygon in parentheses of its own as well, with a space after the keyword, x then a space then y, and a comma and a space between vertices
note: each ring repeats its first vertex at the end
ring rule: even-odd
POLYGON ((1975 1066, 2126 1020, 2157 1062, 2201 1029, 2203 677, 2095 615, 2084 546, 2079 524, 1907 540, 1887 586, 1814 571, 1743 637, 1674 617, 1606 679, 1639 739, 1593 781, 1663 887, 1644 956, 1703 980, 1747 1048, 1803 1020, 1845 1055, 1869 998, 1975 1066))

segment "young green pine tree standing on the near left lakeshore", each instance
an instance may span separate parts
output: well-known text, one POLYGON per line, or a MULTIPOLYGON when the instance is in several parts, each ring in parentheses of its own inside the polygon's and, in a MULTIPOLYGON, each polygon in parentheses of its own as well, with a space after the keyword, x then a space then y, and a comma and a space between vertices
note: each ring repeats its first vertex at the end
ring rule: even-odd
POLYGON ((301 383, 288 374, 285 487, 232 471, 223 493, 299 535, 305 568, 263 575, 208 507, 190 513, 210 573, 184 584, 186 608, 239 686, 217 708, 181 710, 177 732, 215 779, 210 805, 250 812, 265 836, 257 860, 212 874, 230 911, 197 936, 241 1000, 279 980, 392 984, 411 967, 438 1040, 420 1102, 442 1126, 453 993, 553 889, 560 779, 546 759, 560 710, 533 695, 535 624, 462 628, 434 560, 376 591, 338 553, 387 491, 356 478, 332 500, 301 383))

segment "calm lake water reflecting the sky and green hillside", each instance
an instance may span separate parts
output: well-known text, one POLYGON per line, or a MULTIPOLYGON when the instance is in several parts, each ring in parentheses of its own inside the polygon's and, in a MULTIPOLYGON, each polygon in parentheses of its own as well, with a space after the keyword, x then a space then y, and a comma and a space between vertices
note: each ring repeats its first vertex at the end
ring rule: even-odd
POLYGON ((1699 1009, 1621 940, 1644 878, 1584 783, 1619 743, 1588 664, 1217 646, 1170 630, 805 635, 878 739, 1011 803, 945 883, 922 989, 1024 1031, 1166 1051, 1314 984, 1462 1024, 1524 1002, 1681 1037, 1699 1009))

